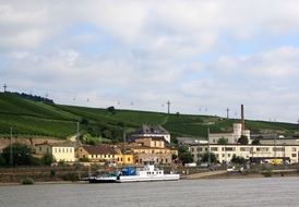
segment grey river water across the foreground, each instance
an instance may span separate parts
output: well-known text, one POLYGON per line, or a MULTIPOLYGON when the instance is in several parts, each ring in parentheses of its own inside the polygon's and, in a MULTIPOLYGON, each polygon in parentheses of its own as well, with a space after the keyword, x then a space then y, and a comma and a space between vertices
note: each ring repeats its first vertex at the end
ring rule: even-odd
POLYGON ((299 206, 299 178, 0 186, 1 207, 299 206))

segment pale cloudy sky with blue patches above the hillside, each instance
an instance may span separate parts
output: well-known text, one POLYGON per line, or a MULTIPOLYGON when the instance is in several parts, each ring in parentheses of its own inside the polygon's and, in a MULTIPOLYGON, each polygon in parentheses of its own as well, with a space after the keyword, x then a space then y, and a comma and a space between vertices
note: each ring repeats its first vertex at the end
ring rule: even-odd
MULTIPOLYGON (((0 0, 0 84, 87 107, 299 119, 298 0, 0 0)), ((3 90, 3 88, 1 88, 3 90)))

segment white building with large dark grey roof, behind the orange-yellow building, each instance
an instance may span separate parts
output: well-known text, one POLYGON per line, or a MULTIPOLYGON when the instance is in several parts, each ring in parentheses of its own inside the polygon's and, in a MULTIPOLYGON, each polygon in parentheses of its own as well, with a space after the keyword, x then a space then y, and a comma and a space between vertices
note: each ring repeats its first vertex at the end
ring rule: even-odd
POLYGON ((167 143, 170 143, 170 134, 160 125, 146 125, 143 124, 142 127, 137 129, 132 138, 136 137, 163 137, 167 143))

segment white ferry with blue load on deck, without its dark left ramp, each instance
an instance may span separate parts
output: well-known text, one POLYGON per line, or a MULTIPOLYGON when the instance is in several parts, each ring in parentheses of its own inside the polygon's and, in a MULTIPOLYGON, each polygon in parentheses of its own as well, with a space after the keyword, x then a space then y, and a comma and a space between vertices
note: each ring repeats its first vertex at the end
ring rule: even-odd
POLYGON ((143 181, 177 181, 180 174, 170 172, 165 174, 164 170, 157 169, 153 163, 147 162, 142 169, 127 168, 117 176, 116 182, 143 182, 143 181))

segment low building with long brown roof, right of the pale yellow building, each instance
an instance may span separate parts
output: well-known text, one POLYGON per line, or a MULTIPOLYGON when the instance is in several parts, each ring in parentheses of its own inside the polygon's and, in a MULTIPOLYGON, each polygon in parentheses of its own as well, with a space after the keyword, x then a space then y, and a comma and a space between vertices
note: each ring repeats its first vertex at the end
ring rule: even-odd
POLYGON ((117 151, 106 145, 89 146, 83 145, 76 149, 76 156, 80 160, 88 159, 95 162, 116 163, 117 151))

